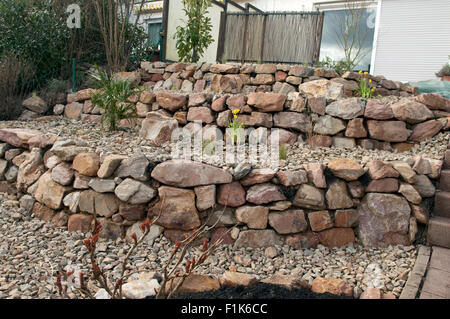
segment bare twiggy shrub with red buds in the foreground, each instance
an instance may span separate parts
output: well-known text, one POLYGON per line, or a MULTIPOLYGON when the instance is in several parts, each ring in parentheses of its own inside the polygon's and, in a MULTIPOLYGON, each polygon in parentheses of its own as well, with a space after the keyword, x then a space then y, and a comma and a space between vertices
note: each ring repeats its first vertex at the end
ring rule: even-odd
MULTIPOLYGON (((126 279, 133 275, 135 271, 128 266, 128 261, 131 255, 136 251, 136 248, 145 240, 147 235, 150 233, 151 227, 159 220, 162 213, 162 207, 164 206, 164 198, 162 198, 161 208, 159 210, 158 216, 150 221, 147 218, 141 225, 140 229, 142 231, 142 236, 137 237, 136 233, 131 234, 133 239, 133 246, 126 254, 125 258, 121 263, 120 277, 111 283, 108 281, 108 274, 104 269, 100 268, 97 262, 96 248, 97 242, 100 236, 100 231, 102 225, 97 220, 94 215, 94 227, 91 236, 84 240, 84 245, 89 252, 90 264, 92 267, 91 276, 86 276, 83 272, 79 274, 74 274, 74 270, 61 271, 56 276, 56 286, 58 288, 59 295, 62 298, 70 299, 68 295, 69 281, 75 284, 78 291, 86 298, 96 299, 95 293, 89 288, 88 281, 95 280, 98 286, 106 291, 111 299, 124 299, 122 286, 126 279), (78 278, 74 278, 78 275, 78 278)), ((214 209, 214 207, 212 208, 214 209)), ((178 241, 175 243, 174 248, 170 252, 168 261, 162 267, 162 280, 161 287, 159 290, 155 289, 156 298, 171 298, 182 286, 185 279, 191 275, 196 268, 198 268, 206 258, 212 255, 216 249, 223 243, 223 238, 226 236, 231 228, 224 232, 219 238, 212 244, 209 243, 208 239, 203 240, 202 248, 198 251, 192 251, 192 247, 196 244, 197 240, 205 235, 207 232, 214 229, 220 222, 221 216, 224 214, 226 207, 224 207, 222 214, 217 218, 217 221, 212 226, 207 226, 209 219, 198 229, 194 229, 191 234, 185 235, 185 240, 178 241), (189 258, 186 258, 189 256, 189 258)), ((212 216, 212 214, 210 214, 212 216)), ((74 286, 74 285, 72 285, 74 286)))

